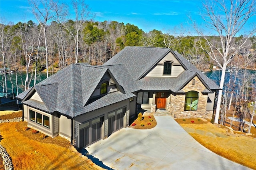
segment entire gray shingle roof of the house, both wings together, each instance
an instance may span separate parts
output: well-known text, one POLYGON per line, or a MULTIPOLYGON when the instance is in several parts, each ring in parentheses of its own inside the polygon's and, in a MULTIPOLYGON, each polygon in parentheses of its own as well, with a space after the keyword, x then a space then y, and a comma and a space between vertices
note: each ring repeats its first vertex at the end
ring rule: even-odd
POLYGON ((18 95, 17 98, 23 100, 34 89, 45 105, 32 99, 23 101, 24 104, 49 113, 58 111, 69 117, 76 117, 132 98, 135 96, 132 92, 139 90, 183 92, 182 87, 194 76, 203 80, 208 88, 204 92, 209 93, 211 90, 220 89, 176 51, 158 47, 125 47, 102 66, 71 64, 36 84, 34 88, 18 95), (168 53, 172 53, 180 61, 184 71, 178 77, 145 76, 168 53), (116 80, 118 87, 122 87, 123 90, 108 93, 92 101, 90 97, 107 73, 114 76, 113 79, 116 80))

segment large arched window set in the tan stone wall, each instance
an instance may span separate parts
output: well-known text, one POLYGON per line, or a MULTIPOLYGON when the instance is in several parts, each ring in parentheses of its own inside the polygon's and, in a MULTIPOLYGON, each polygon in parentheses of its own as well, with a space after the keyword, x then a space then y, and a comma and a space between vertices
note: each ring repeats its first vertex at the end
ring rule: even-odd
POLYGON ((186 92, 184 110, 197 110, 199 93, 196 91, 186 92))

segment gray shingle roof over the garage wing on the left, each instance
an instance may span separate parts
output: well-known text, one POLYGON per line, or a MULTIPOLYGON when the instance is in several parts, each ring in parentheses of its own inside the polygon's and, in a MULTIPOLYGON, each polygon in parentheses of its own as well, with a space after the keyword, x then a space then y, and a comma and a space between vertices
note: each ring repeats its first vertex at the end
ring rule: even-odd
MULTIPOLYGON (((76 117, 135 96, 130 92, 123 94, 117 91, 86 104, 108 71, 108 68, 101 66, 71 64, 34 86, 45 105, 31 99, 23 101, 23 103, 50 113, 58 111, 64 115, 76 117)), ((26 92, 26 94, 28 93, 26 92)), ((20 95, 20 99, 24 99, 26 94, 20 95)))

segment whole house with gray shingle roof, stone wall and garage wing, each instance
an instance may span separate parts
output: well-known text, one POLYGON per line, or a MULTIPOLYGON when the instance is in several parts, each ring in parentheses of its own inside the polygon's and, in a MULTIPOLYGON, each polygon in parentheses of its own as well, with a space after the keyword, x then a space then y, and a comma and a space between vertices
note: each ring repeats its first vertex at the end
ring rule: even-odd
POLYGON ((218 90, 171 49, 125 47, 102 66, 71 64, 16 98, 28 126, 81 149, 127 127, 140 107, 211 119, 218 90))

